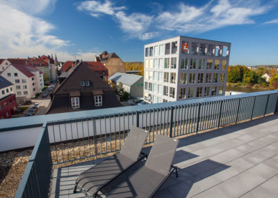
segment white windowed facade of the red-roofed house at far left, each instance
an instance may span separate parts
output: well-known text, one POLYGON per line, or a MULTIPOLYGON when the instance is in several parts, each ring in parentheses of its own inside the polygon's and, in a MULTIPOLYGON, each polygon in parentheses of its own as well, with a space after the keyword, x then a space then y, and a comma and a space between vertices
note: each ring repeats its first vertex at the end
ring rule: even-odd
MULTIPOLYGON (((36 73, 39 73, 39 71, 36 73)), ((38 88, 38 79, 36 75, 27 77, 13 65, 10 65, 1 73, 1 76, 13 83, 13 92, 17 97, 31 99, 35 97, 36 93, 40 93, 41 89, 39 90, 38 88)))

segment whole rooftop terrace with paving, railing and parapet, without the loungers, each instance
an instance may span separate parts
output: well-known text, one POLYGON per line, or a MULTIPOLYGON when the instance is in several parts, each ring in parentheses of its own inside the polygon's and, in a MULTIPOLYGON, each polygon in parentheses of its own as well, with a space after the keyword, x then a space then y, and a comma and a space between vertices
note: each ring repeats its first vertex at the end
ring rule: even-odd
POLYGON ((11 119, 1 128, 0 149, 35 145, 15 197, 79 197, 72 194, 76 176, 119 151, 137 125, 149 131, 146 152, 157 133, 180 139, 179 178, 170 176, 154 197, 275 195, 277 96, 263 91, 11 119))

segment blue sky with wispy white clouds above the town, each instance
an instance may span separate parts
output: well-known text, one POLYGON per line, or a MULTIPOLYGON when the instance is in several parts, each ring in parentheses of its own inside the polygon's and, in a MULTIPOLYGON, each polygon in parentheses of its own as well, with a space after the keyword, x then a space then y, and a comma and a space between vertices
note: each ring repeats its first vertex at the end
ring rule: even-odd
POLYGON ((0 2, 0 58, 143 61, 144 45, 179 35, 231 43, 230 65, 278 64, 278 0, 0 2))

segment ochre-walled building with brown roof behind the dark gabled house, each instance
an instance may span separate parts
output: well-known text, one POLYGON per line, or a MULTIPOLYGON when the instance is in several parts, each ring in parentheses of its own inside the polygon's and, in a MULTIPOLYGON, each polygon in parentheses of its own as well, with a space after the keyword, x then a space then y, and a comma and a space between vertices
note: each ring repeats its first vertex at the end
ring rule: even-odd
POLYGON ((114 73, 125 73, 126 68, 124 62, 117 54, 104 51, 99 56, 95 56, 95 61, 101 62, 108 69, 108 77, 111 77, 114 73))

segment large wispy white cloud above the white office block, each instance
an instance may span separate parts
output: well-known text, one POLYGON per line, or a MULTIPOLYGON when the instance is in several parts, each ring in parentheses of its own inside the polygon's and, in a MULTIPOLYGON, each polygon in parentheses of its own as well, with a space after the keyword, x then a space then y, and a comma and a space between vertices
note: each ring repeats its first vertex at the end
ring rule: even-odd
POLYGON ((252 16, 265 13, 269 7, 252 1, 220 0, 197 8, 180 3, 178 11, 165 11, 157 17, 158 28, 171 31, 204 32, 223 26, 253 24, 252 16))

